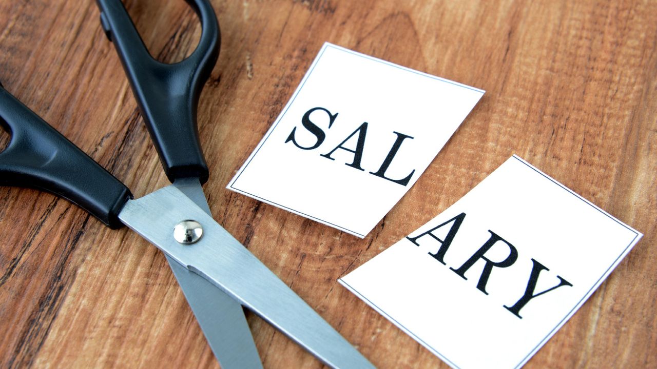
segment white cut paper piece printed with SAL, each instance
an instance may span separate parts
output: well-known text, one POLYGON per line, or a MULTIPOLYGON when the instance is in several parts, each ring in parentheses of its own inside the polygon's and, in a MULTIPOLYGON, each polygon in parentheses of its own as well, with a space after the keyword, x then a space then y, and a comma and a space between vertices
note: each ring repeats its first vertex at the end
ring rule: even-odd
POLYGON ((363 238, 482 95, 325 43, 227 188, 363 238))

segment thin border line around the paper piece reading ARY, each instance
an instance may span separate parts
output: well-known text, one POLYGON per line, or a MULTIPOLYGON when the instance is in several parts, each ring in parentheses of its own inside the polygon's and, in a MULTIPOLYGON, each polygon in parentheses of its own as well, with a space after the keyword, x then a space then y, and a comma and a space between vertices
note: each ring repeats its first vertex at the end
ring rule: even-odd
MULTIPOLYGON (((523 163, 524 165, 526 165, 527 167, 529 167, 530 169, 532 169, 532 170, 535 171, 536 173, 539 173, 539 175, 545 177, 545 179, 548 179, 549 181, 551 181, 551 182, 554 183, 555 185, 558 185, 560 188, 563 188, 563 189, 566 190, 568 193, 574 195, 576 198, 578 198, 579 200, 581 200, 581 201, 584 202, 585 204, 587 204, 587 205, 593 207, 593 209, 599 211, 600 213, 602 213, 603 215, 605 215, 605 216, 608 217, 609 219, 612 219, 612 221, 618 223, 618 224, 621 225, 622 227, 626 228, 627 230, 629 230, 630 232, 633 232, 633 233, 635 234, 634 238, 632 238, 632 240, 629 242, 629 244, 623 249, 623 251, 618 255, 618 257, 616 257, 616 259, 615 259, 615 260, 613 261, 613 263, 612 263, 612 264, 606 269, 606 271, 604 271, 604 272, 602 273, 602 275, 600 276, 600 278, 598 278, 598 280, 593 284, 593 287, 592 287, 591 289, 589 289, 589 290, 584 294, 584 297, 582 297, 582 298, 578 301, 578 303, 575 304, 575 306, 573 307, 573 309, 571 309, 571 310, 570 310, 570 311, 564 316, 564 318, 563 318, 562 320, 560 320, 560 321, 556 324, 556 326, 555 326, 550 332, 548 332, 548 334, 545 335, 545 337, 543 337, 543 339, 541 339, 537 345, 535 345, 535 346, 533 347, 533 349, 530 350, 530 353, 528 353, 528 355, 526 355, 524 358, 522 358, 522 360, 520 360, 520 362, 518 362, 518 364, 516 364, 516 366, 514 366, 514 369, 518 369, 518 368, 520 368, 521 366, 523 366, 524 364, 526 364, 526 362, 528 362, 529 359, 532 358, 532 356, 533 356, 535 353, 537 353, 537 351, 539 351, 539 349, 541 349, 541 347, 543 347, 543 345, 545 345, 545 343, 547 343, 547 341, 548 341, 552 336, 555 335, 556 331, 559 330, 564 324, 566 324, 566 321, 567 321, 568 319, 570 319, 570 317, 572 317, 572 316, 575 314, 575 312, 579 309, 579 307, 581 307, 581 305, 583 305, 583 304, 587 301, 587 299, 589 299, 589 297, 591 297, 591 295, 593 294, 593 292, 595 292, 595 290, 600 286, 600 284, 602 284, 603 280, 604 280, 607 276, 609 276, 609 274, 611 274, 612 270, 613 270, 616 266, 618 266, 618 264, 620 263, 621 259, 622 259, 623 257, 625 257, 625 255, 627 255, 627 253, 629 253, 629 249, 631 249, 631 248, 632 248, 632 247, 638 242, 637 238, 639 238, 639 237, 641 236, 641 234, 640 234, 639 232, 637 232, 637 230, 635 230, 635 229, 633 229, 633 228, 631 228, 631 227, 628 227, 627 225, 625 225, 625 223, 619 221, 619 220, 616 219, 615 217, 612 217, 612 215, 610 215, 610 214, 607 213, 606 211, 604 211, 604 210, 600 209, 599 207, 595 206, 595 204, 589 202, 589 200, 586 200, 585 198, 579 196, 578 194, 576 194, 575 192, 573 192, 572 190, 570 190, 570 188, 568 188, 568 187, 562 185, 561 183, 558 183, 557 181, 555 181, 555 179, 553 179, 553 178, 550 177, 549 175, 546 175, 545 173, 543 173, 542 171, 540 171, 539 169, 537 169, 536 167, 534 167, 532 164, 530 164, 530 163, 528 163, 528 162, 525 162, 522 158, 518 157, 517 155, 514 154, 513 156, 511 156, 511 158, 514 158, 514 159, 518 160, 518 162, 523 163)), ((418 336, 416 336, 415 334, 413 334, 413 332, 411 332, 411 330, 409 330, 408 328, 406 328, 405 326, 403 326, 401 323, 399 323, 397 320, 395 320, 394 318, 392 318, 392 316, 388 315, 388 313, 386 313, 383 309, 381 309, 380 307, 378 307, 378 305, 376 305, 375 303, 373 303, 373 301, 371 301, 370 299, 367 299, 367 297, 365 297, 362 293, 360 293, 358 290, 356 290, 355 288, 353 288, 353 286, 351 286, 350 284, 348 284, 347 282, 345 282, 344 279, 340 278, 339 282, 340 282, 341 284, 343 284, 346 288, 348 288, 349 290, 351 290, 351 292, 355 293, 355 295, 357 295, 360 299, 362 299, 363 301, 365 301, 368 305, 370 305, 371 307, 373 307, 376 311, 379 311, 382 315, 386 316, 386 318, 388 318, 388 320, 390 320, 390 321, 392 321, 394 324, 396 324, 396 326, 398 326, 399 328, 401 328, 402 330, 404 330, 405 332, 407 332, 407 334, 409 334, 409 336, 413 336, 413 339, 415 339, 416 341, 418 341, 419 343, 421 343, 422 345, 424 345, 424 347, 427 347, 428 349, 430 349, 430 351, 432 351, 434 354, 436 354, 438 357, 440 357, 443 361, 445 361, 447 364, 449 364, 449 366, 451 366, 451 367, 453 367, 453 368, 456 368, 456 369, 460 369, 460 368, 461 368, 460 366, 458 366, 457 364, 455 364, 453 361, 447 359, 447 357, 445 357, 445 355, 443 355, 442 353, 440 353, 440 351, 436 350, 434 347, 432 347, 431 345, 429 345, 428 343, 426 343, 426 341, 423 341, 422 339, 420 339, 420 337, 418 337, 418 336)))

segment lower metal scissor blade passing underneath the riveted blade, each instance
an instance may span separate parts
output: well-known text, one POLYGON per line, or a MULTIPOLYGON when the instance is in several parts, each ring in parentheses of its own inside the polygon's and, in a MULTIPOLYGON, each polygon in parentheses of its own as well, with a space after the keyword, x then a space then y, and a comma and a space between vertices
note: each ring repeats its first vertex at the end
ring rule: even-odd
MULTIPOLYGON (((177 179, 173 186, 211 215, 197 178, 177 179)), ((221 367, 261 369, 260 355, 242 305, 169 255, 166 258, 221 367)))

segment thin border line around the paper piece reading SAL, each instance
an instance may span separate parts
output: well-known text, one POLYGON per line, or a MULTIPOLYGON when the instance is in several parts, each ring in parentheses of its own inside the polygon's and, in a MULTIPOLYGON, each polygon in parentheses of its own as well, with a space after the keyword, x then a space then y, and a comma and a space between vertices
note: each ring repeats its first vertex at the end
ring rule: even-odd
MULTIPOLYGON (((231 182, 230 182, 229 185, 228 185, 228 188, 230 188, 231 190, 234 190, 234 191, 236 191, 236 192, 240 192, 240 193, 242 193, 242 194, 246 194, 246 195, 250 196, 251 198, 255 198, 255 199, 261 200, 261 201, 263 201, 263 202, 267 202, 267 203, 269 203, 269 204, 272 204, 272 205, 274 205, 274 206, 280 207, 281 209, 286 209, 286 210, 288 210, 288 211, 291 211, 292 213, 296 213, 296 214, 298 214, 298 215, 302 215, 302 216, 304 216, 304 217, 306 217, 306 218, 308 218, 308 219, 313 219, 313 220, 315 220, 315 221, 319 221, 320 223, 324 223, 325 225, 330 225, 331 227, 338 228, 339 230, 343 230, 343 231, 348 232, 348 233, 350 233, 350 234, 353 234, 353 235, 355 235, 355 236, 359 236, 359 237, 361 237, 361 238, 365 238, 365 236, 367 236, 367 234, 360 234, 359 232, 355 232, 354 230, 350 230, 349 228, 341 227, 341 226, 339 226, 339 225, 336 225, 336 224, 334 224, 334 223, 330 223, 330 222, 325 221, 325 220, 323 220, 323 219, 321 219, 321 218, 318 218, 318 217, 313 217, 312 215, 308 215, 308 214, 306 214, 306 213, 303 213, 302 211, 298 211, 298 210, 296 210, 296 209, 292 209, 292 207, 283 206, 283 205, 281 205, 281 204, 278 204, 277 202, 273 202, 273 201, 268 200, 268 199, 266 199, 266 198, 262 198, 262 197, 260 197, 260 196, 256 196, 256 195, 251 194, 250 192, 246 192, 246 191, 244 191, 244 190, 240 190, 239 188, 237 188, 237 187, 235 186, 235 183, 237 183, 237 181, 238 181, 238 179, 240 178, 240 176, 242 175, 242 173, 244 173, 244 171, 246 170, 246 167, 248 167, 248 165, 251 163, 251 161, 252 161, 254 158, 256 158, 256 155, 258 155, 258 152, 260 151, 260 148, 261 148, 261 147, 265 144, 265 142, 269 139, 269 136, 271 136, 271 133, 273 133, 273 131, 274 131, 274 130, 276 129, 276 127, 279 125, 279 123, 281 122, 281 120, 283 120, 283 117, 285 116, 285 114, 287 113, 287 111, 290 109, 290 107, 292 106, 292 104, 294 104, 294 100, 296 100, 296 97, 299 95, 299 93, 301 93, 302 89, 304 89, 304 85, 306 85, 306 81, 307 81, 308 77, 310 77, 310 75, 313 73, 313 70, 315 70, 315 66, 317 66, 317 64, 319 63, 319 60, 321 60, 322 56, 324 55, 325 51, 327 51, 328 48, 336 49, 336 50, 338 50, 338 51, 344 51, 344 52, 346 52, 346 53, 350 53, 350 54, 353 54, 353 55, 355 55, 355 56, 360 56, 361 58, 366 58, 366 59, 369 59, 369 60, 373 60, 373 61, 375 61, 375 62, 380 62, 380 63, 382 63, 382 64, 386 64, 386 65, 388 65, 388 66, 393 66, 393 67, 395 67, 395 68, 397 68, 397 69, 405 70, 406 72, 411 72, 411 73, 414 73, 414 74, 418 74, 418 75, 420 75, 420 76, 429 77, 429 78, 431 78, 431 79, 436 79, 437 81, 442 81, 442 82, 445 82, 445 83, 449 83, 449 84, 451 84, 451 85, 455 85, 455 86, 459 86, 459 87, 464 87, 464 88, 466 88, 466 89, 469 89, 469 90, 472 90, 472 91, 477 91, 477 92, 482 93, 482 94, 483 94, 485 91, 480 90, 480 89, 476 89, 476 88, 474 88, 474 87, 470 87, 470 86, 467 86, 467 85, 463 85, 463 84, 461 84, 461 83, 457 83, 457 82, 455 82, 455 81, 450 81, 449 79, 444 79, 444 78, 441 78, 441 77, 432 76, 432 75, 430 75, 430 74, 426 74, 426 73, 423 73, 423 72, 419 72, 419 71, 417 71, 417 70, 412 70, 412 69, 410 69, 410 68, 406 68, 406 67, 403 67, 403 66, 399 66, 399 65, 397 65, 397 64, 394 64, 394 63, 391 63, 391 62, 387 62, 386 60, 381 60, 381 59, 378 59, 378 58, 374 58, 373 56, 369 56, 369 55, 365 55, 365 54, 357 53, 357 52, 355 52, 355 51, 351 51, 351 50, 349 50, 349 49, 344 49, 343 47, 339 47, 339 46, 337 46, 337 45, 333 45, 333 44, 331 44, 331 43, 325 43, 325 44, 323 45, 323 47, 322 47, 322 49, 321 49, 319 55, 317 56, 317 58, 315 58, 315 61, 313 61, 313 64, 311 65, 311 67, 310 67, 309 71, 307 72, 306 76, 304 76, 304 79, 302 80, 300 86, 298 87, 298 89, 297 89, 296 91, 294 91, 294 95, 292 95, 292 98, 290 99, 290 102, 288 102, 288 104, 285 106, 285 108, 284 108, 284 110, 283 110, 283 113, 281 113, 281 115, 280 115, 278 118, 276 118, 276 121, 274 122, 273 126, 272 126, 272 127, 269 129, 269 131, 267 132, 267 135, 265 136, 265 138, 264 138, 264 139, 258 144, 258 147, 256 148, 255 152, 254 152, 254 153, 248 158, 248 161, 247 161, 246 163, 244 163, 244 165, 242 165, 242 167, 239 169, 239 171, 238 171, 238 173, 237 173, 237 177, 235 177, 235 179, 231 180, 231 182)), ((420 175, 421 175, 421 173, 420 173, 420 175)), ((407 192, 408 192, 409 189, 410 189, 410 188, 407 189, 407 192)))

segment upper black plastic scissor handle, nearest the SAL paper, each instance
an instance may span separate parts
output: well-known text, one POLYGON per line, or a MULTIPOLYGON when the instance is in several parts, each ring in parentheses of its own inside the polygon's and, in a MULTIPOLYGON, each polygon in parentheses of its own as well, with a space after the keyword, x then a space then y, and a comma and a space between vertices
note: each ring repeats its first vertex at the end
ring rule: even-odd
POLYGON ((196 107, 219 56, 219 24, 208 0, 187 0, 201 22, 194 53, 165 64, 148 53, 121 0, 97 0, 101 24, 114 43, 150 137, 171 182, 177 178, 208 180, 208 165, 198 141, 196 107))

